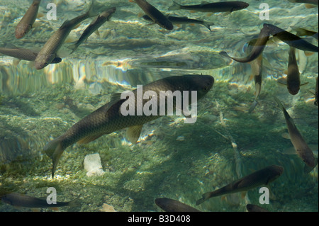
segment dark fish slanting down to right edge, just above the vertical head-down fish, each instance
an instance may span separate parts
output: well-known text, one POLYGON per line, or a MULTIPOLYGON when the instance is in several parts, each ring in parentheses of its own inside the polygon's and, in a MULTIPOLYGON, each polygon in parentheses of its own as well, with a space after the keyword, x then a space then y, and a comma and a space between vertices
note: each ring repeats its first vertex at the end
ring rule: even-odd
POLYGON ((291 47, 295 47, 296 49, 303 51, 318 52, 318 46, 308 43, 306 40, 303 40, 299 36, 293 35, 293 33, 290 33, 269 23, 264 23, 264 27, 269 28, 271 35, 279 38, 281 41, 290 45, 291 47))

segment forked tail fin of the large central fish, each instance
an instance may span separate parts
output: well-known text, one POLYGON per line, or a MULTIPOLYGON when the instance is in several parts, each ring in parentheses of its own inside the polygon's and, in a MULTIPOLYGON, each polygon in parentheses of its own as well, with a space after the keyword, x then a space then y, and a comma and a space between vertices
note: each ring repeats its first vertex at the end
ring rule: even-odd
POLYGON ((45 154, 47 154, 50 159, 52 159, 52 178, 55 176, 55 170, 57 169, 57 162, 59 162, 59 159, 64 152, 64 148, 62 147, 62 136, 57 137, 55 140, 51 140, 50 142, 45 145, 43 148, 45 151, 45 154))

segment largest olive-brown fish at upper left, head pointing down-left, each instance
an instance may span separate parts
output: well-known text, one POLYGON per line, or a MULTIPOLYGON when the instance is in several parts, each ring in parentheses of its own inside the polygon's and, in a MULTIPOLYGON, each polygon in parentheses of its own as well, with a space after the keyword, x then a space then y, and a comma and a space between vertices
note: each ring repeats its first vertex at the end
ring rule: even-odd
POLYGON ((92 0, 89 11, 81 16, 77 16, 70 21, 65 21, 62 26, 53 33, 53 35, 43 45, 38 56, 35 58, 35 69, 43 69, 57 57, 57 51, 60 50, 67 36, 79 23, 84 21, 86 18, 96 16, 93 11, 94 0, 92 0))

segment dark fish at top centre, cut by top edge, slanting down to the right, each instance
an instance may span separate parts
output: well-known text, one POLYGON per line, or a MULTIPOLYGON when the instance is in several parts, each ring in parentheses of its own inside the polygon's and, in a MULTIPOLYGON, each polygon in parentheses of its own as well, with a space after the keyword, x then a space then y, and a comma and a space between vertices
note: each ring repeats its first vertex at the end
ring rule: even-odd
POLYGON ((165 28, 167 30, 173 30, 174 26, 171 21, 167 18, 167 16, 164 16, 163 13, 161 13, 158 9, 156 9, 154 6, 149 4, 145 0, 131 0, 135 1, 138 6, 140 6, 140 9, 146 13, 147 16, 152 18, 152 21, 154 23, 157 23, 162 28, 165 28))

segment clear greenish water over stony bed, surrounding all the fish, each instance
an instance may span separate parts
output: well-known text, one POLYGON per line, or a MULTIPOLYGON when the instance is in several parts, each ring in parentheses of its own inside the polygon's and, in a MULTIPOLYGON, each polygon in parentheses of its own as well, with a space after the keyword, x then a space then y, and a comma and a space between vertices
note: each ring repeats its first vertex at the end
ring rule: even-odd
MULTIPOLYGON (((40 48, 50 35, 70 18, 86 11, 89 1, 60 0, 57 21, 37 19, 21 40, 14 30, 31 1, 0 0, 0 44, 40 48)), ((43 0, 40 12, 47 13, 43 0)), ((199 4, 200 1, 177 1, 199 4)), ((259 19, 262 1, 247 0, 250 6, 229 15, 168 11, 172 3, 150 3, 170 16, 188 16, 215 23, 210 32, 201 25, 175 26, 168 31, 148 25, 137 4, 128 0, 96 0, 105 7, 116 6, 111 21, 93 34, 74 54, 60 64, 42 70, 0 55, 0 186, 34 197, 47 196, 47 188, 57 189, 57 200, 79 197, 77 207, 60 211, 100 211, 103 203, 116 211, 159 211, 155 198, 179 200, 201 211, 246 211, 247 203, 259 204, 259 189, 231 196, 211 198, 196 206, 201 194, 213 191, 271 164, 284 167, 284 174, 270 183, 271 211, 318 211, 318 166, 303 174, 303 162, 286 139, 284 115, 273 96, 284 103, 298 130, 318 156, 318 108, 314 106, 318 53, 306 57, 298 51, 301 91, 291 96, 279 85, 288 63, 289 46, 269 45, 264 50, 264 76, 259 104, 247 113, 254 100, 250 64, 221 57, 218 52, 240 57, 243 45, 259 34, 263 23, 289 30, 298 26, 318 30, 318 7, 289 1, 269 4, 269 21, 259 19), (87 145, 68 147, 60 159, 55 179, 52 162, 43 153, 44 145, 62 135, 85 115, 108 103, 113 93, 135 89, 138 84, 181 74, 210 74, 213 89, 198 103, 195 124, 181 117, 162 117, 143 126, 137 144, 125 140, 125 130, 104 135, 87 145), (230 139, 231 137, 231 139, 230 139), (232 145, 233 141, 233 145, 232 145), (99 153, 103 176, 86 176, 84 157, 99 153)), ((91 23, 87 19, 69 37, 76 40, 91 23)), ((310 42, 313 40, 309 39, 310 42)), ((316 41, 314 45, 318 45, 316 41)), ((65 43, 62 52, 66 52, 65 43)), ((29 211, 23 208, 23 211, 29 211)), ((42 211, 52 211, 43 208, 42 211)), ((0 211, 20 211, 0 203, 0 211)))

